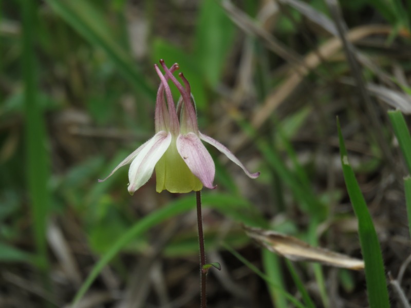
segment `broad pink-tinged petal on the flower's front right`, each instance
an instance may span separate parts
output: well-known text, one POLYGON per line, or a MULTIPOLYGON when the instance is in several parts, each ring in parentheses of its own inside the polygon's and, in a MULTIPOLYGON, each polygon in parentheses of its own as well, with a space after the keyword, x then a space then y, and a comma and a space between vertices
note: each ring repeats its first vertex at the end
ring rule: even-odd
POLYGON ((191 172, 204 186, 207 188, 216 187, 213 185, 215 175, 213 159, 194 132, 178 136, 177 150, 191 172))

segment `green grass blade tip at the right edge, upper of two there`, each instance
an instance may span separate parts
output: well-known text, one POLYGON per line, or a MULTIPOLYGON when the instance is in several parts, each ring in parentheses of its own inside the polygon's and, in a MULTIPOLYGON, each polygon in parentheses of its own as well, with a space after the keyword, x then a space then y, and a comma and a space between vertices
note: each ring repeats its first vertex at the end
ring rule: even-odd
POLYGON ((411 173, 411 136, 409 135, 408 126, 401 111, 388 111, 388 115, 407 164, 408 173, 411 173))

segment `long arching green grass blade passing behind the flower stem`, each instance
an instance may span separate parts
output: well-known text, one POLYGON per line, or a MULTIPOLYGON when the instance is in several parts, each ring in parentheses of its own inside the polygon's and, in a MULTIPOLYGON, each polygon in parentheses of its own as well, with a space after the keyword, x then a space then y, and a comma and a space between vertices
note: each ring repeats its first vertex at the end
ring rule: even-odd
MULTIPOLYGON (((243 198, 240 197, 232 197, 224 194, 202 194, 202 204, 203 206, 212 206, 217 210, 222 210, 223 208, 237 206, 238 208, 245 208, 248 207, 248 203, 245 203, 243 198)), ((171 217, 177 216, 185 211, 188 211, 194 208, 196 205, 196 201, 194 196, 189 196, 185 198, 181 198, 173 203, 165 207, 161 207, 160 209, 154 211, 150 215, 142 218, 137 223, 135 223, 132 227, 130 227, 127 232, 119 238, 113 246, 111 246, 107 253, 105 253, 101 259, 95 264, 92 268, 90 274, 88 275, 86 281, 81 286, 80 290, 77 292, 76 296, 73 299, 73 306, 75 307, 80 299, 84 296, 87 292, 88 288, 91 286, 92 282, 97 278, 100 274, 104 266, 110 262, 120 251, 121 249, 126 246, 130 241, 134 238, 142 235, 151 227, 158 225, 159 223, 163 222, 166 219, 171 217)), ((232 212, 230 212, 232 213, 232 212)))

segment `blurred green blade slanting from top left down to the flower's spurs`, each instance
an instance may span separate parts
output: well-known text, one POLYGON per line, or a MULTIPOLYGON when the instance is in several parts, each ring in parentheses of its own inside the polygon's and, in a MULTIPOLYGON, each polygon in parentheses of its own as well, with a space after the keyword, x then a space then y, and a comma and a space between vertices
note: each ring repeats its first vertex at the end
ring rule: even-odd
POLYGON ((145 76, 136 68, 132 58, 121 49, 104 17, 90 2, 83 0, 46 0, 46 2, 89 43, 102 48, 132 87, 154 101, 155 90, 146 82, 145 76))

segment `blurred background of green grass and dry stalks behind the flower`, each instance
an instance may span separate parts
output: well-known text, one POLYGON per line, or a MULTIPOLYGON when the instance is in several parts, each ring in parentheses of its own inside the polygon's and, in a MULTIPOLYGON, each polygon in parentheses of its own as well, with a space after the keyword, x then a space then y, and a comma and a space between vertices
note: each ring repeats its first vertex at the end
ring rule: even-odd
POLYGON ((153 177, 131 197, 126 167, 97 182, 154 134, 159 59, 190 81, 201 131, 261 171, 250 180, 210 148, 206 249, 222 265, 210 306, 368 304, 363 272, 286 262, 241 229, 362 258, 337 115, 399 276, 391 305, 409 301, 408 131, 387 111, 411 112, 410 12, 409 0, 0 1, 0 306, 198 306, 193 194, 157 194, 153 177))

